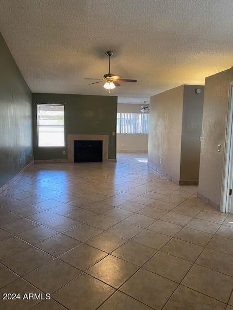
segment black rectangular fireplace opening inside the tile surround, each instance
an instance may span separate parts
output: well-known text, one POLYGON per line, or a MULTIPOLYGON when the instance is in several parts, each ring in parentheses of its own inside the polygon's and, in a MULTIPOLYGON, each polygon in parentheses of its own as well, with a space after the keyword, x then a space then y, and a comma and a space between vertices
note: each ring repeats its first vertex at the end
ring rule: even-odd
POLYGON ((102 162, 103 141, 74 140, 74 162, 102 162))

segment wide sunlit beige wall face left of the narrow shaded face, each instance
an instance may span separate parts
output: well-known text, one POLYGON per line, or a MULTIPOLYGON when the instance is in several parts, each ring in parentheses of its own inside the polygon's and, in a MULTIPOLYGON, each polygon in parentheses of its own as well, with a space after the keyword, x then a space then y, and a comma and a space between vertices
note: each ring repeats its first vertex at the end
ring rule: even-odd
POLYGON ((175 181, 180 180, 182 116, 183 85, 150 97, 148 162, 175 181))

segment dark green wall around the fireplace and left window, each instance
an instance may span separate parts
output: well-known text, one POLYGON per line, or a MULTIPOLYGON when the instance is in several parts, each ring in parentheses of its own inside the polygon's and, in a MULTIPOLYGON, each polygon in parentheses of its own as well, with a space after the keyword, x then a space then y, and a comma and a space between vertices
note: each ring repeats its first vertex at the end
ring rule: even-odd
POLYGON ((116 96, 33 93, 34 158, 67 159, 67 134, 109 135, 108 156, 116 158, 116 110, 116 96), (38 147, 36 104, 39 103, 65 104, 65 147, 38 147))

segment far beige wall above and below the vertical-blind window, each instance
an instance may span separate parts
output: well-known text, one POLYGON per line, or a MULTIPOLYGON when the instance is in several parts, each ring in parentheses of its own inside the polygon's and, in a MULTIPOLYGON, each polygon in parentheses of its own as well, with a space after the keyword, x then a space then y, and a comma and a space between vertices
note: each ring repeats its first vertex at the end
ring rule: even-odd
MULTIPOLYGON (((120 103, 117 104, 117 113, 141 113, 142 105, 120 103)), ((116 134, 116 152, 147 152, 147 150, 148 134, 116 134)))

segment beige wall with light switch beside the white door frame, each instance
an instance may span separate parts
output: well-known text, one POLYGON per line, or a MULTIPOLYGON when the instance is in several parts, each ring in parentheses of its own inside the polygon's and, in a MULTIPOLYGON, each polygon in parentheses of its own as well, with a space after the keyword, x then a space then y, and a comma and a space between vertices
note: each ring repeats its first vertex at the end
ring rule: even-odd
POLYGON ((231 81, 232 68, 205 79, 198 195, 218 208, 221 202, 231 81), (221 144, 221 152, 217 152, 218 144, 221 144))

